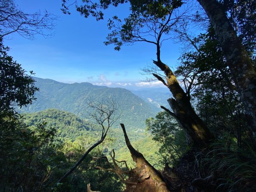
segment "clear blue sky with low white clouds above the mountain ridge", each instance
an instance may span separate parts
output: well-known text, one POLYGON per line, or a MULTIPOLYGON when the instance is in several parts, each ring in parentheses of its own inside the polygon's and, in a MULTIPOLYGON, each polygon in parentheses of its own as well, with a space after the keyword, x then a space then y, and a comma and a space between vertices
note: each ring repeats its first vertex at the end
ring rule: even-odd
MULTIPOLYGON (((12 55, 22 67, 33 70, 37 77, 54 79, 64 83, 90 82, 108 87, 159 87, 160 82, 141 83, 145 76, 140 69, 151 64, 156 58, 154 45, 137 43, 124 46, 117 52, 113 46, 105 46, 108 35, 107 20, 113 15, 128 15, 128 7, 108 9, 105 20, 85 19, 73 10, 71 15, 61 12, 61 0, 16 0, 24 12, 38 10, 58 16, 55 35, 44 38, 36 35, 34 40, 25 39, 18 34, 4 41, 12 55)), ((180 55, 179 45, 172 40, 162 47, 162 61, 171 67, 177 66, 180 55)))

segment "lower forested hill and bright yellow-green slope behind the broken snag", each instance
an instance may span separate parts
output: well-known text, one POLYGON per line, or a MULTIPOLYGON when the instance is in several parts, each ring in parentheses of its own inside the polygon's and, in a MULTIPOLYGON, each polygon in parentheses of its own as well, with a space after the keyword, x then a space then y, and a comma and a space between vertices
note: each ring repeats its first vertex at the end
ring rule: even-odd
MULTIPOLYGON (((93 138, 93 140, 100 139, 101 128, 97 124, 93 124, 84 119, 79 118, 70 112, 60 111, 57 109, 47 109, 34 113, 24 113, 23 122, 29 127, 36 127, 39 123, 47 122, 47 127, 52 127, 58 130, 57 136, 63 141, 74 142, 78 138, 93 138)), ((159 144, 152 140, 152 137, 145 133, 138 133, 136 131, 127 132, 132 145, 142 152, 144 156, 153 165, 157 165, 157 152, 159 144), (151 148, 151 150, 148 150, 151 148)), ((126 160, 128 166, 134 165, 131 154, 125 145, 125 138, 121 128, 111 128, 108 132, 108 138, 111 143, 107 141, 105 147, 107 151, 114 149, 116 151, 116 158, 119 160, 126 160)), ((108 139, 108 140, 109 140, 108 139)), ((159 165, 157 165, 159 166, 159 165)))

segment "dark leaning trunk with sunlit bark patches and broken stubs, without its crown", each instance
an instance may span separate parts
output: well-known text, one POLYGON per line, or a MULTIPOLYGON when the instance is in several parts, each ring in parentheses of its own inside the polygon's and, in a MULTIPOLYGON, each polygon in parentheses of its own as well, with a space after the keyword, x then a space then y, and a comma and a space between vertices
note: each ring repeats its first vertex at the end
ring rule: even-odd
MULTIPOLYGON (((158 52, 160 52, 160 49, 158 52)), ((169 88, 174 97, 167 100, 173 113, 170 113, 170 111, 167 112, 177 119, 180 126, 185 131, 187 143, 199 148, 209 144, 213 136, 204 122, 195 113, 189 97, 180 87, 180 84, 172 70, 164 64, 160 58, 158 58, 158 61, 153 62, 166 75, 165 85, 169 88)), ((153 75, 156 76, 155 74, 153 75)), ((158 77, 157 79, 163 82, 163 79, 160 78, 161 77, 158 77)))

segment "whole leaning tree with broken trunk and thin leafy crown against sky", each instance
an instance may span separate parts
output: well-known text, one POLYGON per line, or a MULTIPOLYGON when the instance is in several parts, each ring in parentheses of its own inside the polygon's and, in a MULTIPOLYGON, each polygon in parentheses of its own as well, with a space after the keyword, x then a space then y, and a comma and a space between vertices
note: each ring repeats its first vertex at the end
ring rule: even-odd
MULTIPOLYGON (((110 3, 123 2, 102 1, 100 5, 94 4, 93 9, 88 5, 90 2, 85 2, 84 6, 77 6, 77 10, 85 17, 92 14, 97 19, 101 19, 102 14, 97 11, 97 8, 106 9, 110 3)), ((131 14, 124 19, 124 23, 117 16, 109 20, 108 27, 112 29, 112 32, 108 35, 105 44, 114 44, 116 50, 120 50, 123 44, 134 44, 139 41, 154 44, 157 59, 153 63, 156 67, 147 71, 154 76, 154 80, 163 82, 174 97, 168 99, 173 112, 164 109, 180 123, 185 131, 188 144, 206 145, 212 139, 212 134, 192 108, 190 90, 185 92, 180 87, 175 74, 167 64, 163 63, 160 55, 163 41, 170 38, 168 35, 178 22, 189 17, 189 8, 180 11, 179 8, 183 4, 181 0, 130 1, 130 3, 131 14)))

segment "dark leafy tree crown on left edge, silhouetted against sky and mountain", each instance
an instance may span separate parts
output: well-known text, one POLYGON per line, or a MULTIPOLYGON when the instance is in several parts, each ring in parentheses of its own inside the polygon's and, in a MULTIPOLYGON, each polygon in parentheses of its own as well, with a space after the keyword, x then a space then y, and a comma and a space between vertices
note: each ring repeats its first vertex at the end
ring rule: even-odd
MULTIPOLYGON (((8 47, 4 47, 0 40, 0 111, 14 111, 15 105, 18 107, 31 104, 34 93, 38 88, 34 86, 35 80, 26 74, 21 65, 13 61, 12 56, 7 52, 8 47)), ((33 74, 31 71, 30 74, 33 74)))

